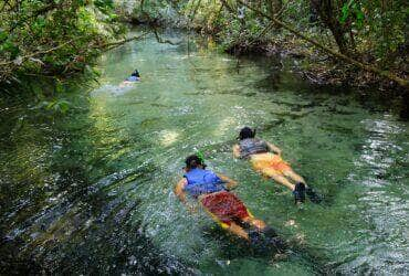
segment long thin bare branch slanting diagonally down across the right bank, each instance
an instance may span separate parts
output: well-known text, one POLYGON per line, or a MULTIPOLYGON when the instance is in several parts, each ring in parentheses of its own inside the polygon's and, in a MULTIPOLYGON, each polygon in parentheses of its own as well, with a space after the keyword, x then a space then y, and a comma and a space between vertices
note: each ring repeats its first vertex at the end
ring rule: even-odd
MULTIPOLYGON (((321 44, 319 42, 306 36, 305 34, 298 32, 297 30, 295 30, 294 28, 292 28, 291 25, 284 23, 283 21, 276 19, 275 17, 271 17, 269 14, 265 14, 263 11, 260 11, 258 9, 254 9, 253 7, 249 6, 248 3, 244 3, 243 1, 241 0, 238 0, 238 2, 240 2, 241 4, 245 6, 247 8, 249 8, 250 10, 254 11, 255 13, 258 13, 259 15, 263 17, 263 18, 266 18, 266 19, 270 19, 271 21, 273 21, 275 24, 282 26, 283 29, 290 31, 291 33, 295 34, 296 36, 300 36, 301 39, 310 42, 311 44, 313 44, 314 46, 321 49, 321 50, 324 50, 325 52, 327 52, 328 54, 335 56, 335 57, 338 57, 339 60, 343 60, 343 61, 346 61, 350 64, 354 64, 356 65, 357 67, 361 68, 361 70, 365 70, 365 71, 368 71, 370 73, 374 73, 376 75, 379 75, 379 76, 382 76, 382 77, 386 77, 386 78, 389 78, 396 83, 398 83, 399 85, 401 86, 405 86, 405 87, 409 87, 409 82, 401 78, 401 77, 398 77, 397 75, 394 75, 392 73, 390 72, 387 72, 387 71, 382 71, 380 68, 377 68, 377 67, 374 67, 371 65, 368 65, 368 64, 364 64, 361 62, 358 62, 349 56, 346 56, 339 52, 336 52, 334 51, 333 49, 331 47, 327 47, 323 44, 321 44)), ((224 0, 222 0, 222 3, 227 4, 224 0)), ((229 6, 227 6, 228 9, 230 8, 229 6)), ((231 9, 231 8, 230 8, 231 9)))

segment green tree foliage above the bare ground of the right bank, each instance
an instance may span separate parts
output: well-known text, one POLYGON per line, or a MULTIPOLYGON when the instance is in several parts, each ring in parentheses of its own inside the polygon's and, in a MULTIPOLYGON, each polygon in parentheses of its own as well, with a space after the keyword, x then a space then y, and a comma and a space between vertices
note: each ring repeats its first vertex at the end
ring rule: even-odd
MULTIPOLYGON (((254 43, 256 41, 285 43, 292 38, 285 30, 271 26, 269 20, 249 8, 244 9, 242 18, 239 17, 239 9, 243 6, 237 0, 139 0, 137 2, 139 6, 135 7, 136 18, 154 17, 166 20, 166 24, 177 21, 180 25, 181 22, 186 28, 212 34, 224 50, 237 45, 251 47, 256 44, 254 43), (144 2, 143 7, 140 7, 141 2, 144 2), (164 7, 175 10, 174 18, 167 17, 164 7)), ((283 22, 328 46, 334 47, 345 43, 342 46, 345 47, 346 53, 377 61, 378 66, 388 67, 399 61, 401 65, 405 60, 398 57, 405 55, 400 49, 405 49, 407 44, 409 17, 407 1, 252 0, 243 2, 266 14, 279 12, 283 22), (321 8, 324 12, 319 13, 312 9, 313 3, 315 9, 321 8), (273 6, 283 8, 274 11, 273 6), (318 22, 312 22, 312 15, 315 15, 318 22), (332 30, 334 25, 338 29, 335 32, 334 29, 332 30)))

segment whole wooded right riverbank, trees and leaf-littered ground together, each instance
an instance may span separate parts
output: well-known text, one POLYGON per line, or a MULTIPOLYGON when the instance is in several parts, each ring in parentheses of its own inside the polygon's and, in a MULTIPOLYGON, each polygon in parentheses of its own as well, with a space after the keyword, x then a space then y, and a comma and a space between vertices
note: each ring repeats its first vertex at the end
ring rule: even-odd
POLYGON ((169 7, 141 2, 124 19, 211 35, 222 51, 234 55, 290 56, 296 60, 293 71, 312 85, 407 97, 408 45, 402 40, 400 8, 385 6, 373 12, 376 4, 363 6, 360 10, 356 6, 335 6, 335 10, 328 11, 331 14, 323 14, 319 6, 291 7, 279 2, 271 1, 270 7, 242 1, 187 1, 169 7), (352 15, 357 12, 365 21, 354 21, 352 15), (394 28, 387 23, 390 17, 394 28), (328 25, 327 20, 334 25, 328 25))

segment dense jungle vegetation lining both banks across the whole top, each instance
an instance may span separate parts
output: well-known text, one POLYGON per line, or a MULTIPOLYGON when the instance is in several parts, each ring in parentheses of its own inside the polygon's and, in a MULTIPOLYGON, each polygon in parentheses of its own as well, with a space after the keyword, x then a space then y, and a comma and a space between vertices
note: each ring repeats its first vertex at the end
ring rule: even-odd
POLYGON ((303 57, 313 82, 408 86, 408 4, 400 0, 2 0, 0 81, 90 71, 92 57, 124 34, 124 20, 211 34, 235 54, 303 57))

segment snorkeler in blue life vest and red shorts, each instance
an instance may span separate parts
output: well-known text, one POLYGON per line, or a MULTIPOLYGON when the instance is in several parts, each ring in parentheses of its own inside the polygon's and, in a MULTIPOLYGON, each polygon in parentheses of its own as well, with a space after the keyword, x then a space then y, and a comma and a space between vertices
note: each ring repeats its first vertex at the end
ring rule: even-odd
MULTIPOLYGON (((196 199, 222 229, 249 241, 260 233, 275 232, 261 220, 255 219, 238 197, 230 192, 238 183, 220 173, 206 169, 197 155, 186 159, 183 178, 175 188, 176 195, 188 205, 187 195, 196 199), (252 231, 244 229, 253 227, 252 231)), ((193 209, 190 206, 190 209, 193 209)), ((280 240, 274 240, 275 243, 280 240)))

